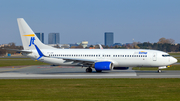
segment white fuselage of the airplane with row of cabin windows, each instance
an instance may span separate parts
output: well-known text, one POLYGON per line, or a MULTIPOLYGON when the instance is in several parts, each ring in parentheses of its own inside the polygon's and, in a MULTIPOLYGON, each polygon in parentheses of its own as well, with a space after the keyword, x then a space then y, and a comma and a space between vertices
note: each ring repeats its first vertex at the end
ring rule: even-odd
MULTIPOLYGON (((46 57, 39 61, 54 65, 81 65, 62 58, 88 61, 110 61, 114 67, 162 67, 177 62, 168 53, 146 49, 42 49, 46 57)), ((27 56, 37 59, 39 54, 32 50, 27 56)))

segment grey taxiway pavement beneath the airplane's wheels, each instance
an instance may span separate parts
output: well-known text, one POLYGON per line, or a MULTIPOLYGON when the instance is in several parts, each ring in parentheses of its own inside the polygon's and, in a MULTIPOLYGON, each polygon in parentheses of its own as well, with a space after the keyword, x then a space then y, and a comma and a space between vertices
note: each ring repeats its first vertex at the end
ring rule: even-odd
POLYGON ((15 66, 1 67, 0 79, 56 79, 56 78, 180 78, 180 71, 112 70, 86 73, 86 68, 77 66, 15 66))

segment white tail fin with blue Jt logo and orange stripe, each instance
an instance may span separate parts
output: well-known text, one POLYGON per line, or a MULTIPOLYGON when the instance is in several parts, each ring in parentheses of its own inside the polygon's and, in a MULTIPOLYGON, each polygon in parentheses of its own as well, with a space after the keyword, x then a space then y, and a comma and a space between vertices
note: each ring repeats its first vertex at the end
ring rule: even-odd
POLYGON ((17 22, 24 50, 54 49, 43 44, 23 18, 18 18, 17 22))

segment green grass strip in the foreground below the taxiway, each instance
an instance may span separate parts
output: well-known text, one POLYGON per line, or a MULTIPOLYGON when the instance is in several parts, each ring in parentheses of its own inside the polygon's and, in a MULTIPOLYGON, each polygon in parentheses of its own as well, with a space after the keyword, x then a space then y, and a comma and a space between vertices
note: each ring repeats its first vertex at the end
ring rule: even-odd
POLYGON ((0 100, 179 101, 180 79, 0 80, 0 100))

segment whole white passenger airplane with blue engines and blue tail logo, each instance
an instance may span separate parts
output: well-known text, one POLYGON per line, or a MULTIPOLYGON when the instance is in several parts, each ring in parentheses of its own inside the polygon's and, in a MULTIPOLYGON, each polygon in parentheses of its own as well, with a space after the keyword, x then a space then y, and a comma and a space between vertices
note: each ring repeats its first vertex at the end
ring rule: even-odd
POLYGON ((128 69, 129 67, 167 68, 177 62, 168 53, 150 49, 58 49, 43 44, 23 18, 17 18, 24 50, 22 55, 52 65, 87 67, 86 72, 128 69))

